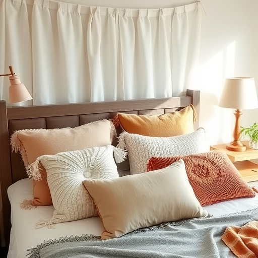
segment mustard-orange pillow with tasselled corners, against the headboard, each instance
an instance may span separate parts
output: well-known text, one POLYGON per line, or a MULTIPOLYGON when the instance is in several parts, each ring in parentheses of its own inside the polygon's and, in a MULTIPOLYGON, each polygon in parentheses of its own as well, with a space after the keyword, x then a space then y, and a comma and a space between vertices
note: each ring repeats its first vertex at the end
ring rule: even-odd
POLYGON ((130 134, 138 134, 152 137, 170 137, 190 134, 195 131, 193 121, 196 119, 196 111, 189 105, 180 111, 162 115, 137 115, 117 113, 113 119, 115 126, 130 134))

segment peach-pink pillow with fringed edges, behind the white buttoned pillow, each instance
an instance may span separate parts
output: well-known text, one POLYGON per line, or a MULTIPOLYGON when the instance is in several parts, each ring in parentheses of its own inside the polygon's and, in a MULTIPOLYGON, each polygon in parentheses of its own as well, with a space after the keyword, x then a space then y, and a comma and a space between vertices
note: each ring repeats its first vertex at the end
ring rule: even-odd
MULTIPOLYGON (((42 155, 82 150, 110 145, 115 136, 111 121, 100 120, 75 128, 19 130, 11 137, 12 151, 20 151, 26 168, 42 155)), ((25 200, 21 207, 52 205, 46 172, 41 171, 41 180, 33 180, 33 200, 25 200)))

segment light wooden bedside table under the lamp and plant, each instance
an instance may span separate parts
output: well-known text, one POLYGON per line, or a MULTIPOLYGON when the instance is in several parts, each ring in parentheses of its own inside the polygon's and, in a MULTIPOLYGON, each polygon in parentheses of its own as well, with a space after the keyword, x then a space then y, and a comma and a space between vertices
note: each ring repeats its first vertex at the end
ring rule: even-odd
POLYGON ((250 149, 248 141, 241 142, 246 146, 246 151, 230 151, 226 149, 225 144, 212 145, 210 146, 210 150, 221 150, 226 152, 229 159, 246 182, 258 181, 258 164, 250 162, 252 159, 258 159, 258 150, 250 149))

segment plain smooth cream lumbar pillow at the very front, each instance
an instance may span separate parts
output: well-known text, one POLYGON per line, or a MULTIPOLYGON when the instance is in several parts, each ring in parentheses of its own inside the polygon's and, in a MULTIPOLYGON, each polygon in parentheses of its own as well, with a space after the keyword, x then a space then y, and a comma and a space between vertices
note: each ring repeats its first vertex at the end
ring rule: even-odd
POLYGON ((210 216, 193 192, 183 160, 148 173, 83 183, 103 222, 101 239, 162 222, 210 216))

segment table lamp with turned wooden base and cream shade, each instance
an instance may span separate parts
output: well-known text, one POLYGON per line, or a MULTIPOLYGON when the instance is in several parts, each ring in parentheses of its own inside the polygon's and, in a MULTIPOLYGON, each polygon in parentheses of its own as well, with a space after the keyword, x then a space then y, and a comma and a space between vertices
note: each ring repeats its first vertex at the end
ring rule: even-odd
POLYGON ((258 108, 254 79, 250 77, 227 78, 225 80, 219 106, 236 109, 233 112, 235 114, 234 139, 231 143, 226 144, 226 148, 231 151, 245 151, 246 146, 240 141, 240 116, 242 114, 242 109, 258 108))

